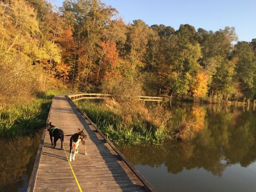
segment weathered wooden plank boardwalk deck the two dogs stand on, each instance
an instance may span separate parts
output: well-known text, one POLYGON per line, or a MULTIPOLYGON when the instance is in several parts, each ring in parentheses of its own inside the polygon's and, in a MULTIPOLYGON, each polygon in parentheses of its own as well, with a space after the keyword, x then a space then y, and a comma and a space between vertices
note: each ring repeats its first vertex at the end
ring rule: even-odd
MULTIPOLYGON (((81 145, 76 160, 70 162, 83 191, 155 191, 66 95, 53 98, 47 121, 66 135, 76 133, 78 128, 85 129, 87 155, 81 145)), ((65 137, 63 142, 68 156, 69 138, 65 137)), ((60 146, 58 140, 52 149, 49 132, 43 133, 28 191, 79 191, 60 146)))

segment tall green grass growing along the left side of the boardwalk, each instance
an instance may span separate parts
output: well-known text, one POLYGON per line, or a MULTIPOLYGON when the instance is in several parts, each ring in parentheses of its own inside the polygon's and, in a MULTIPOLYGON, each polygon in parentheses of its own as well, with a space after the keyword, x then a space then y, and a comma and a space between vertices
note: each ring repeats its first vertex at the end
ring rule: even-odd
POLYGON ((30 102, 0 107, 0 137, 30 135, 41 129, 47 119, 53 96, 60 93, 65 91, 42 92, 30 102))

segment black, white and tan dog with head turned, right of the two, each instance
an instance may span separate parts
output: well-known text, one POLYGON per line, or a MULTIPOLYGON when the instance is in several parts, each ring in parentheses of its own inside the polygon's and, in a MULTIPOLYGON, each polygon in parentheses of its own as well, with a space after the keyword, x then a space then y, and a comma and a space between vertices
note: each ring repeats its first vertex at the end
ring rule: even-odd
MULTIPOLYGON (((84 129, 83 129, 84 130, 84 129)), ((73 134, 70 137, 70 143, 69 143, 69 151, 70 151, 70 157, 69 157, 69 161, 75 161, 75 156, 76 154, 78 154, 78 147, 79 147, 79 142, 82 141, 83 147, 84 147, 84 154, 86 155, 86 150, 85 150, 85 139, 86 139, 86 134, 84 134, 84 132, 80 131, 80 129, 77 130, 77 133, 73 134), (72 158, 72 150, 74 150, 74 155, 72 158)))

